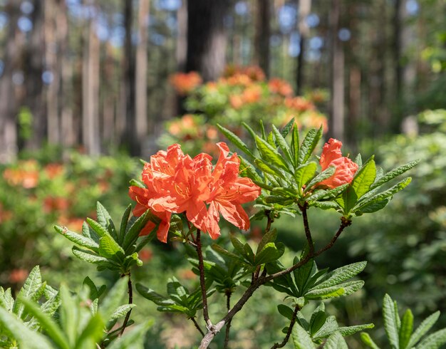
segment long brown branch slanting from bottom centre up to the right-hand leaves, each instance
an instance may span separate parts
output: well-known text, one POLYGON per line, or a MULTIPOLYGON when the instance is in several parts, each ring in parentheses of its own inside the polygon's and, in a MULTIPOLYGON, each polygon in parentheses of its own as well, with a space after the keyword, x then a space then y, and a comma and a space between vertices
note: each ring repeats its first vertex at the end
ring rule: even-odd
POLYGON ((291 273, 291 271, 294 271, 298 269, 299 267, 306 264, 310 259, 313 259, 314 257, 322 254, 324 251, 327 251, 328 249, 331 249, 333 244, 336 242, 336 239, 338 239, 338 236, 341 235, 343 229, 345 229, 347 226, 351 225, 351 220, 346 219, 345 217, 341 218, 341 226, 339 226, 338 231, 336 231, 335 236, 331 239, 330 242, 326 246, 324 246, 322 249, 318 250, 317 252, 313 251, 313 254, 307 254, 304 259, 301 259, 299 263, 294 264, 294 266, 290 266, 288 269, 284 269, 283 271, 279 271, 275 274, 271 274, 269 276, 266 276, 266 269, 264 269, 264 272, 262 272, 261 276, 254 280, 254 282, 249 285, 246 291, 244 291, 242 297, 239 299, 239 301, 234 305, 234 307, 227 313, 224 318, 222 318, 221 321, 219 321, 217 324, 215 324, 212 327, 212 330, 209 330, 206 335, 204 335, 204 338, 202 339, 202 342, 199 345, 199 349, 206 349, 209 344, 214 339, 215 335, 223 328, 223 326, 228 323, 228 321, 232 320, 232 318, 237 314, 239 311, 242 310, 245 303, 247 303, 248 299, 251 298, 254 291, 256 291, 257 288, 259 288, 261 285, 264 285, 264 283, 267 283, 274 278, 279 278, 280 276, 284 276, 286 274, 291 273))

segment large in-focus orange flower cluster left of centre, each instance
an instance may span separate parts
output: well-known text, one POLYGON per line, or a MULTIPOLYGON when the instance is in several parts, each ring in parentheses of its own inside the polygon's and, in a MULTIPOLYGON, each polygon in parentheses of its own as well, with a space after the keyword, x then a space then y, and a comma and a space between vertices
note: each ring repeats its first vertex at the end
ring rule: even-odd
MULTIPOLYGON (((219 159, 212 168, 212 157, 201 153, 193 159, 183 154, 180 145, 150 157, 142 170, 146 188, 130 187, 129 195, 137 202, 133 214, 147 209, 161 219, 157 231, 160 241, 167 241, 172 213, 185 213, 197 229, 212 239, 220 235, 219 215, 239 229, 249 228, 249 218, 242 204, 260 195, 261 189, 251 179, 239 177, 240 160, 229 155, 226 143, 217 143, 219 159)), ((155 224, 149 222, 141 234, 149 234, 155 224)))

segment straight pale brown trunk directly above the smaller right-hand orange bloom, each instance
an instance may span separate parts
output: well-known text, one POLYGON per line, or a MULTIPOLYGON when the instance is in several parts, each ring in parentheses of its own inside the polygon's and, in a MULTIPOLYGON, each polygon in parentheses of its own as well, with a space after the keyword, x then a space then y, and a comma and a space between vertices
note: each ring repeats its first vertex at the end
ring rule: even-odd
POLYGON ((331 137, 344 137, 344 52, 338 38, 341 0, 333 0, 331 9, 331 103, 329 130, 331 137))

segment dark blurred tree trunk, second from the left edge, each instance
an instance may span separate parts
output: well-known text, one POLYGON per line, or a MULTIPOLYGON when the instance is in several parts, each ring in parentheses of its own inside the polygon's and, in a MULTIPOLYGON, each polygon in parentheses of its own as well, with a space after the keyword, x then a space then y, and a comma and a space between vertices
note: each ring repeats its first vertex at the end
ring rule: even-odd
POLYGON ((43 95, 43 58, 45 36, 43 35, 43 1, 33 1, 34 11, 31 14, 33 31, 25 51, 26 100, 33 115, 32 133, 25 140, 25 147, 36 150, 41 147, 46 136, 46 106, 43 95))

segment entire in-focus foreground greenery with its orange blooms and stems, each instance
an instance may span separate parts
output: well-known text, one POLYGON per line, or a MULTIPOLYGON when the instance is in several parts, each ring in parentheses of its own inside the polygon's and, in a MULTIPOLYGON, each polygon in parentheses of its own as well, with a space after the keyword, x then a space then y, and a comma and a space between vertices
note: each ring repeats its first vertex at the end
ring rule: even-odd
MULTIPOLYGON (((150 157, 141 177, 130 182, 129 195, 136 205, 133 209, 129 205, 120 224, 98 203, 97 218, 87 218, 81 234, 55 226, 58 234, 75 244, 74 256, 121 280, 106 293, 87 277, 84 287, 72 294, 63 285, 58 290, 47 286, 36 267, 16 299, 10 291, 0 290, 1 343, 9 348, 143 348, 150 324, 126 329, 133 322, 130 316, 135 307, 131 272, 142 264, 138 256, 142 247, 156 236, 162 242, 184 244, 185 257, 199 282, 196 288, 188 288, 172 276, 167 293, 150 288, 150 280, 137 283, 136 291, 155 303, 158 311, 181 313, 192 321, 201 338, 199 348, 211 347, 220 332, 224 333, 224 348, 237 346, 230 340, 232 320, 244 308, 255 312, 261 306, 247 305, 259 288, 284 297, 276 307, 288 325, 271 348, 282 348, 288 342, 294 348, 348 348, 347 336, 373 328, 373 324, 340 325, 326 311, 326 303, 363 287, 358 275, 366 262, 331 269, 318 265, 318 256, 331 249, 357 217, 383 209, 410 183, 410 177, 388 183, 418 161, 383 172, 373 157, 363 162, 361 155, 354 161, 343 156, 342 143, 333 139, 315 160, 322 129, 311 129, 300 140, 294 125, 290 121, 281 130, 272 126, 270 132, 261 125, 261 132, 256 133, 245 124, 255 149, 219 126, 244 157, 219 142, 214 165, 210 155, 192 158, 180 145, 171 145, 150 157), (248 203, 254 207, 244 205, 248 203), (338 229, 328 241, 316 241, 308 219, 310 209, 338 212, 338 229), (305 244, 291 264, 282 260, 286 246, 277 241, 280 231, 274 228, 283 215, 304 226, 305 244), (235 227, 229 239, 219 239, 220 217, 235 227), (258 243, 244 238, 254 219, 264 224, 258 243), (127 301, 123 302, 125 293, 127 301), (215 298, 219 293, 222 297, 215 298), (220 304, 214 298, 225 301, 220 304), (220 307, 224 315, 212 318, 211 307, 220 307), (304 308, 314 310, 308 316, 304 308)), ((391 348, 440 348, 446 343, 446 330, 426 335, 439 313, 413 332, 410 311, 400 319, 390 296, 385 296, 383 309, 391 348)), ((378 348, 367 333, 361 333, 361 339, 369 348, 378 348)))

